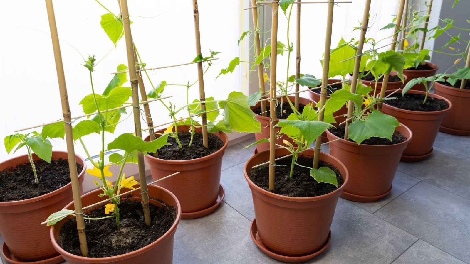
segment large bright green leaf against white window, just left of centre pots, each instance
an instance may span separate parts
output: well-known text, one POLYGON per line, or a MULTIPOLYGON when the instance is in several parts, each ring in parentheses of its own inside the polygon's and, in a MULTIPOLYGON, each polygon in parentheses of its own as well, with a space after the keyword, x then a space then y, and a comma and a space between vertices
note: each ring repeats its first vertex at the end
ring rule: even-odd
POLYGON ((223 121, 226 127, 236 132, 261 132, 261 124, 254 118, 248 96, 243 93, 229 93, 227 100, 219 102, 219 107, 224 109, 223 121))

